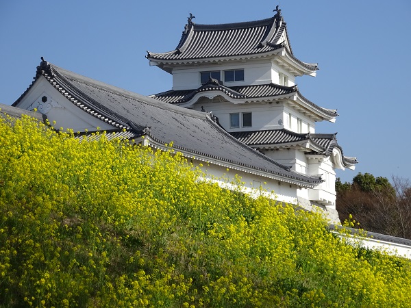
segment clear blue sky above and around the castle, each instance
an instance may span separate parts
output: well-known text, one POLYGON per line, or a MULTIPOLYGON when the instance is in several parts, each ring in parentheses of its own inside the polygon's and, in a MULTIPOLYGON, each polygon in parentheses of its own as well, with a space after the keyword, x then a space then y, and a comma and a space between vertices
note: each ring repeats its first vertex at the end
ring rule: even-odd
POLYGON ((345 155, 355 171, 411 179, 411 1, 0 1, 0 103, 11 105, 31 84, 40 57, 140 94, 171 88, 171 75, 150 67, 146 50, 175 49, 188 14, 195 23, 273 16, 280 3, 292 49, 318 62, 317 77, 299 77, 301 93, 337 108, 345 155))

